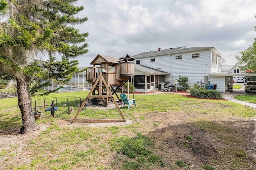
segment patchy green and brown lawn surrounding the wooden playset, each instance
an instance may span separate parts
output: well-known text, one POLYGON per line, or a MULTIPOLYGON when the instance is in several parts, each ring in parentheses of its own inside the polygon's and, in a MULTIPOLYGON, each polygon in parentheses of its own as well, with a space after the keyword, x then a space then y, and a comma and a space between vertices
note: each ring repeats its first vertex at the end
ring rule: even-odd
MULTIPOLYGON (((48 97, 85 98, 87 94, 88 91, 77 91, 48 97)), ((67 113, 37 120, 38 126, 47 125, 39 135, 18 135, 16 144, 1 143, 1 167, 15 170, 183 170, 192 165, 194 169, 254 168, 256 162, 251 155, 255 151, 248 136, 254 130, 250 118, 256 117, 255 109, 224 100, 193 99, 170 93, 134 95, 134 98, 137 107, 121 108, 126 120, 132 121, 125 126, 71 125, 67 120, 72 120, 74 114, 67 113), (16 161, 20 156, 24 161, 16 161), (184 165, 178 165, 177 160, 184 165)), ((92 108, 84 109, 77 119, 88 118, 121 119, 117 109, 92 108)), ((17 137, 9 132, 17 132, 21 126, 17 98, 0 99, 0 130, 6 132, 1 140, 17 137)))

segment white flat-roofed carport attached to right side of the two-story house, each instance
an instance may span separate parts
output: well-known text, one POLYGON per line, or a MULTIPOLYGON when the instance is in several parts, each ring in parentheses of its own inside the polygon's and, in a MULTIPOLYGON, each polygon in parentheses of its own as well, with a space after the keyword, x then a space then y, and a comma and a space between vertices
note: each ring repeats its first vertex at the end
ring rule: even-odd
POLYGON ((256 73, 210 73, 209 75, 210 84, 216 84, 216 90, 219 92, 226 92, 228 91, 229 86, 233 87, 233 77, 256 77, 256 73))

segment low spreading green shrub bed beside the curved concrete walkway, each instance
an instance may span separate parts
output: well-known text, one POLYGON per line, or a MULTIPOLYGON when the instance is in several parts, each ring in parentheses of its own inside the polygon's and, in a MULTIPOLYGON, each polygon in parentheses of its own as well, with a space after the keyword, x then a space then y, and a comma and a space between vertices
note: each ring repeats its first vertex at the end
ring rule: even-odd
POLYGON ((216 90, 191 89, 190 93, 200 99, 222 99, 222 95, 216 90))

